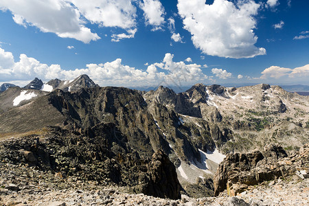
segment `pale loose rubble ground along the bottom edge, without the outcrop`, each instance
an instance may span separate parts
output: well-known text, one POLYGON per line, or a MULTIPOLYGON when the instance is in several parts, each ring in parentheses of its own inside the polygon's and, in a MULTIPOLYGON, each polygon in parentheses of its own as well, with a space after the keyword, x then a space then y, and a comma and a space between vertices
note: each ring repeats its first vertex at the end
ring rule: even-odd
POLYGON ((22 165, 0 163, 0 205, 308 205, 309 180, 291 176, 249 187, 229 197, 179 200, 128 194, 125 187, 96 185, 93 181, 64 179, 52 172, 42 172, 22 165))

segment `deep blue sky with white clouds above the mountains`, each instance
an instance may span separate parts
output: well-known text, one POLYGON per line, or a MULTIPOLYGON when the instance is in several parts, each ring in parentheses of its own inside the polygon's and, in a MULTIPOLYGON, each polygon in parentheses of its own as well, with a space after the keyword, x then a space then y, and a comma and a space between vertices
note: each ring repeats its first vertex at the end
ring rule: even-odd
POLYGON ((309 1, 2 0, 0 83, 308 84, 309 1))

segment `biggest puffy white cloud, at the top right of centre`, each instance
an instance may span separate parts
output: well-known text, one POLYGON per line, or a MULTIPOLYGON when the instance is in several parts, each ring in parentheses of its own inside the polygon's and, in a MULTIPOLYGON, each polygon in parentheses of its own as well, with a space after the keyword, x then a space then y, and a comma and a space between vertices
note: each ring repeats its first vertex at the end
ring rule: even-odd
POLYGON ((255 47, 256 21, 260 4, 255 1, 179 0, 179 14, 186 30, 192 34, 195 47, 204 54, 226 58, 251 58, 266 54, 266 49, 255 47))

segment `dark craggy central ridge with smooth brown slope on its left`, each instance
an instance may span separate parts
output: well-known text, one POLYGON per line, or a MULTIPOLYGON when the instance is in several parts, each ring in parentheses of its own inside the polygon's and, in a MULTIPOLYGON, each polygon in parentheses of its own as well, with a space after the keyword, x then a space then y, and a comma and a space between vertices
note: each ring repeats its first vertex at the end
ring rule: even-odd
MULTIPOLYGON (((131 150, 141 159, 150 159, 161 148, 172 163, 179 167, 182 161, 201 161, 198 149, 213 151, 215 148, 206 122, 196 119, 196 124, 186 123, 182 118, 174 110, 156 101, 148 104, 138 91, 104 87, 80 89, 76 93, 53 91, 23 108, 13 108, 1 115, 0 128, 9 133, 10 128, 27 132, 43 126, 58 125, 95 139, 101 148, 95 149, 95 154, 99 152, 99 155, 94 155, 96 159, 104 159, 100 156, 101 150, 108 151, 111 155, 108 157, 112 159, 117 154, 127 157, 131 150), (10 118, 12 116, 19 119, 10 118), (23 124, 20 124, 21 121, 23 124)), ((216 139, 220 139, 221 135, 216 139)), ((106 163, 110 164, 113 162, 106 163)), ((50 165, 53 167, 54 163, 50 165)), ((114 172, 104 170, 108 178, 117 184, 122 183, 124 179, 121 181, 117 175, 119 168, 111 167, 110 170, 114 172)))

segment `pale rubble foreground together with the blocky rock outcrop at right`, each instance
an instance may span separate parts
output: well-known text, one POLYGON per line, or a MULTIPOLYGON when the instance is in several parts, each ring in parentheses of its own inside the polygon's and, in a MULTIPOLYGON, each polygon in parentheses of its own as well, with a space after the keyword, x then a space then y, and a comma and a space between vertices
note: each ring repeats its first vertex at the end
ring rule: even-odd
MULTIPOLYGON (((222 168, 227 168, 227 170, 222 170, 220 174, 216 174, 214 180, 215 188, 217 188, 218 179, 227 182, 227 187, 223 187, 223 189, 226 189, 220 190, 219 196, 190 198, 182 194, 176 200, 157 198, 141 193, 133 194, 130 186, 102 185, 98 181, 80 179, 79 176, 75 175, 66 176, 65 173, 54 170, 39 170, 36 165, 28 165, 23 161, 20 164, 12 161, 10 163, 8 158, 12 157, 8 155, 6 159, 4 158, 0 162, 0 205, 308 205, 308 146, 307 144, 299 152, 289 156, 284 155, 284 150, 279 150, 278 147, 275 147, 276 150, 266 150, 263 154, 261 153, 264 158, 257 155, 257 151, 240 154, 238 156, 242 158, 236 158, 233 161, 229 161, 229 159, 231 160, 230 156, 235 156, 235 154, 228 155, 218 168, 218 171, 222 168), (275 161, 274 155, 285 157, 278 156, 277 161, 275 161), (257 161, 256 157, 262 160, 257 161), (254 179, 254 175, 251 175, 253 171, 260 171, 260 168, 253 167, 252 162, 268 161, 268 166, 264 167, 267 170, 264 170, 263 174, 264 178, 271 180, 256 184, 244 181, 246 176, 241 172, 246 172, 246 168, 242 168, 244 160, 250 162, 246 164, 246 167, 247 178, 251 178, 251 181, 254 179), (283 175, 277 175, 278 167, 276 168, 276 165, 274 165, 275 162, 277 162, 279 168, 282 168, 282 171, 285 171, 283 175), (228 172, 235 174, 238 169, 241 171, 237 175, 237 180, 235 175, 227 174, 228 172), (303 172, 299 173, 299 170, 303 172), (290 173, 286 173, 287 171, 290 171, 290 173), (224 176, 227 176, 227 179, 224 179, 224 176), (237 185, 238 187, 236 187, 237 185), (130 191, 132 193, 128 193, 130 191)), ((31 158, 31 155, 27 152, 23 152, 23 155, 25 159, 31 158)), ((258 163, 256 164, 258 165, 258 163)), ((257 174, 261 175, 261 173, 257 174)))

